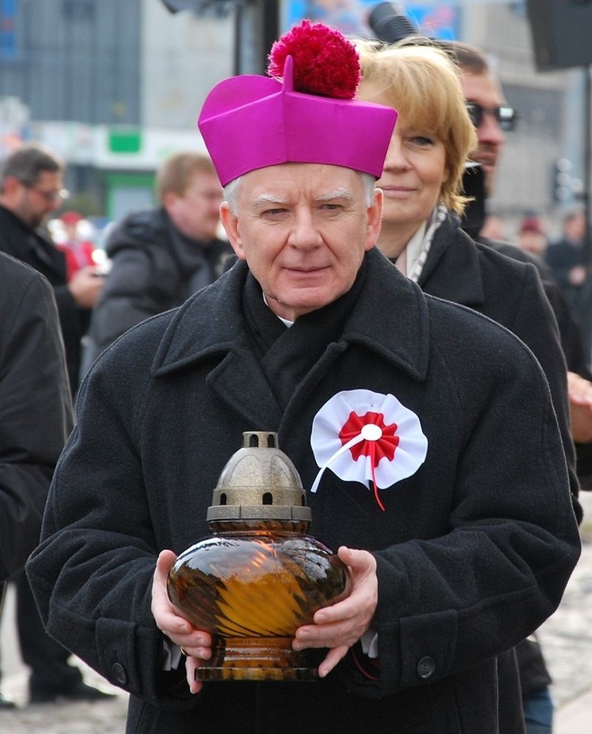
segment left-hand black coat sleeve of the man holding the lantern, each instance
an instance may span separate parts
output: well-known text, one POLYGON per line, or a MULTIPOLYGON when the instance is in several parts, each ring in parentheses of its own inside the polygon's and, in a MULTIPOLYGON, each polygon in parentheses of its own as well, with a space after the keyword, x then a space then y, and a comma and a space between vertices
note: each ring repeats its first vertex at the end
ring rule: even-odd
POLYGON ((108 356, 81 385, 26 570, 51 636, 115 686, 175 708, 191 696, 184 666, 164 672, 164 636, 150 610, 158 542, 138 448, 145 374, 101 368, 108 356), (127 399, 134 388, 137 402, 127 399))

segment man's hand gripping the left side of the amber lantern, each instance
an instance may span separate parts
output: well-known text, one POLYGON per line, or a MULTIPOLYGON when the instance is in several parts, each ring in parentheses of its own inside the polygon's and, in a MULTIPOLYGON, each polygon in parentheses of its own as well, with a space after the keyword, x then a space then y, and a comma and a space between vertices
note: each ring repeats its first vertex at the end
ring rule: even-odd
POLYGON ((187 683, 191 693, 197 693, 203 684, 195 680, 195 670, 203 661, 211 658, 212 638, 207 632, 196 630, 169 601, 167 576, 176 560, 177 556, 172 551, 161 551, 158 556, 152 584, 152 614, 158 629, 178 644, 187 656, 187 683))

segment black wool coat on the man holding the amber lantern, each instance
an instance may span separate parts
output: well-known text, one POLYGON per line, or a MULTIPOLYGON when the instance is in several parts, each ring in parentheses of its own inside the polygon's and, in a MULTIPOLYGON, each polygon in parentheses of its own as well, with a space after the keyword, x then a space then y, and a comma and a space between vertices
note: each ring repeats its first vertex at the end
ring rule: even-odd
MULTIPOLYGON (((131 693, 128 733, 497 734, 497 655, 558 606, 580 554, 547 380, 483 316, 426 296, 377 250, 337 341, 282 410, 247 337, 238 263, 97 360, 27 564, 51 635, 131 693), (150 612, 156 554, 208 534, 244 430, 277 431, 310 487, 318 410, 390 393, 420 419, 423 465, 373 493, 324 472, 311 533, 376 556, 379 680, 346 659, 313 683, 210 683, 164 672, 150 612)), ((522 731, 522 721, 505 734, 522 731)))

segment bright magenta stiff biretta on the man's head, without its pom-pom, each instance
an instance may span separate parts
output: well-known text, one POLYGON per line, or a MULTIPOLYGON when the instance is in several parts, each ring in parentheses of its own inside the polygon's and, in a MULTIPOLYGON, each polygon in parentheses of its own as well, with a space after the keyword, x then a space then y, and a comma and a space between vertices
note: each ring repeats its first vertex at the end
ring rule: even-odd
MULTIPOLYGON (((326 28, 304 23, 317 31, 326 28)), ((339 32, 326 31, 351 46, 339 32)), ((332 47, 327 48, 324 55, 330 57, 332 47)), ((397 113, 353 98, 297 91, 295 65, 308 58, 310 54, 297 52, 285 57, 282 81, 244 75, 213 87, 198 124, 222 186, 249 171, 282 163, 332 164, 380 177, 397 113)), ((315 54, 322 73, 324 57, 318 59, 315 54)), ((354 64, 359 75, 357 54, 354 64)))

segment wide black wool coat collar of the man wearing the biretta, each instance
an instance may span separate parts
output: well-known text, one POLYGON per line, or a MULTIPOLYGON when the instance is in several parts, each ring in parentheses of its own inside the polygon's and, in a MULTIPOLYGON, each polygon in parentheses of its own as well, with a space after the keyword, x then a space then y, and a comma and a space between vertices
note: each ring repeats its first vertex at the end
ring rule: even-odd
POLYGON ((290 406, 299 410, 299 400, 330 370, 348 343, 362 344, 412 379, 425 379, 430 346, 426 297, 376 248, 366 258, 365 286, 340 343, 326 350, 295 390, 285 413, 269 388, 246 333, 241 301, 248 269, 243 262, 198 291, 174 313, 153 360, 153 377, 211 360, 211 371, 205 378, 208 387, 243 416, 245 425, 265 426, 266 430, 278 430, 290 406))

